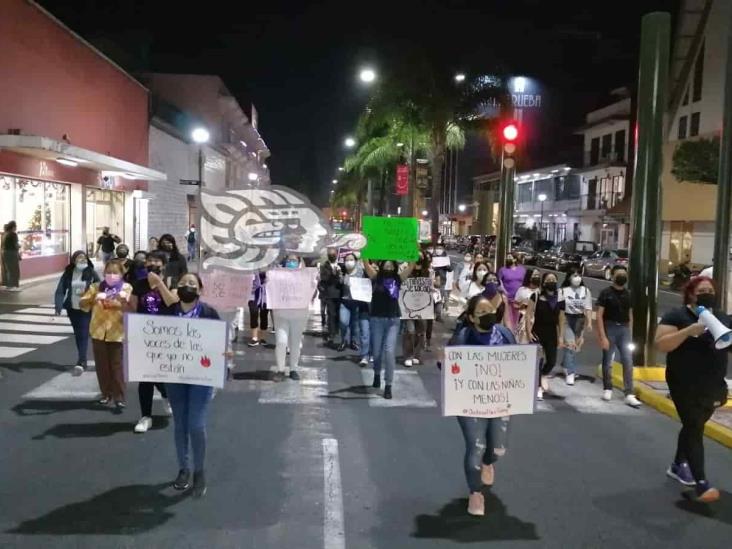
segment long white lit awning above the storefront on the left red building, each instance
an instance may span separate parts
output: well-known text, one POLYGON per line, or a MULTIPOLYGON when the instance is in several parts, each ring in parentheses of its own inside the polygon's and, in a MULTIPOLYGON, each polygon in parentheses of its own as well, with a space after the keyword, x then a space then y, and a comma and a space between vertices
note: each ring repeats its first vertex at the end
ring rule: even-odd
POLYGON ((144 181, 166 181, 163 172, 89 149, 37 135, 0 135, 0 150, 53 160, 68 166, 80 166, 103 172, 104 175, 144 181))

